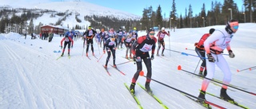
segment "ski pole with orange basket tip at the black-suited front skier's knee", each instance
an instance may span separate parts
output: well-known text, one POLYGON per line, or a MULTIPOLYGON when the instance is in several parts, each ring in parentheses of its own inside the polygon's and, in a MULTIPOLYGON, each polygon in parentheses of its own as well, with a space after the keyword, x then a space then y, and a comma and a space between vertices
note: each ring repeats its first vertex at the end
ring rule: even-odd
MULTIPOLYGON (((139 76, 144 76, 144 72, 143 72, 143 71, 139 72, 139 76)), ((146 77, 146 76, 144 76, 144 77, 146 77)), ((185 91, 179 90, 179 89, 177 89, 177 88, 173 88, 173 87, 171 87, 171 86, 169 86, 169 85, 167 85, 167 84, 163 84, 162 82, 160 82, 160 81, 158 81, 158 80, 154 80, 154 79, 149 78, 149 77, 146 77, 146 79, 153 80, 154 82, 157 82, 158 84, 162 84, 162 85, 166 86, 167 88, 174 89, 175 91, 179 91, 179 92, 182 93, 182 94, 189 95, 189 96, 193 97, 194 99, 198 99, 198 100, 200 100, 200 101, 204 101, 205 103, 208 103, 208 104, 213 105, 213 106, 215 106, 215 107, 218 107, 218 108, 221 108, 221 109, 226 109, 226 107, 221 107, 221 106, 219 106, 218 104, 211 103, 211 102, 207 101, 206 99, 198 98, 198 97, 196 97, 196 96, 194 96, 194 95, 191 95, 191 94, 189 94, 189 93, 187 93, 187 92, 185 92, 185 91)))

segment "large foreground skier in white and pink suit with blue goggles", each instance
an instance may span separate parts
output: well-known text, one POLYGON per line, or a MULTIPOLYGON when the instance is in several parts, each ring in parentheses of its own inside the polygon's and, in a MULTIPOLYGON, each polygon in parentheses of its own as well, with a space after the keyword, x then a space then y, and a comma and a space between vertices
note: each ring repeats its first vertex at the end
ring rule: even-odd
MULTIPOLYGON (((226 23, 225 29, 215 29, 214 33, 210 35, 204 42, 206 56, 208 60, 206 60, 207 65, 207 75, 206 78, 212 79, 215 72, 215 64, 217 64, 218 68, 220 68, 224 74, 223 84, 230 84, 231 75, 229 65, 227 64, 225 58, 222 56, 223 50, 227 49, 230 58, 234 58, 234 53, 230 48, 230 41, 234 33, 238 31, 238 20, 230 20, 226 23)), ((198 98, 206 99, 206 89, 210 84, 210 80, 204 79, 202 81, 202 88, 198 95, 198 98)), ((233 102, 234 99, 231 99, 229 95, 226 94, 226 85, 222 85, 222 89, 220 91, 220 97, 225 99, 226 101, 233 102)), ((205 104, 203 101, 201 102, 205 104)))

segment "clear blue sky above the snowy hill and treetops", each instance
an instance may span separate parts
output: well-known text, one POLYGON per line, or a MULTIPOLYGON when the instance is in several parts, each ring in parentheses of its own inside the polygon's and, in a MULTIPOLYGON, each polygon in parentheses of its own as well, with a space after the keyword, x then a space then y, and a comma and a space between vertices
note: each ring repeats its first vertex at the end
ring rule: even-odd
MULTIPOLYGON (((157 10, 160 5, 162 8, 162 17, 169 18, 170 10, 172 10, 173 0, 0 0, 1 4, 12 5, 21 5, 22 3, 28 5, 29 3, 38 3, 38 2, 70 2, 70 1, 82 1, 90 2, 93 4, 98 4, 99 6, 110 7, 115 10, 123 10, 131 14, 136 14, 142 16, 142 11, 144 8, 149 6, 153 7, 153 10, 157 10), (166 14, 166 16, 165 16, 166 14)), ((223 4, 224 0, 175 0, 178 17, 180 14, 185 16, 185 9, 188 10, 189 6, 192 6, 193 14, 199 14, 202 8, 202 4, 205 3, 206 11, 210 10, 211 2, 217 1, 223 4)), ((238 10, 242 10, 242 0, 234 0, 238 5, 238 10)))

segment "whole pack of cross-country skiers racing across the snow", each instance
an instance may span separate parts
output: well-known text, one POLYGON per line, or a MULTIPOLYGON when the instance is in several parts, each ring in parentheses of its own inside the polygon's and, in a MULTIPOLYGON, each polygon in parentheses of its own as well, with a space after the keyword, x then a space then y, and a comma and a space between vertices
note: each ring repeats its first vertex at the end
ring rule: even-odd
MULTIPOLYGON (((230 20, 227 22, 225 29, 210 29, 209 33, 205 33, 202 38, 194 44, 195 52, 202 60, 202 64, 199 70, 200 76, 205 76, 207 79, 213 79, 216 64, 224 74, 224 78, 222 81, 223 84, 230 84, 230 68, 225 58, 222 56, 222 53, 224 49, 227 49, 230 58, 234 58, 234 53, 230 47, 230 41, 232 40, 232 37, 237 30, 238 21, 230 20)), ((145 88, 146 91, 152 92, 150 89, 150 78, 152 76, 151 60, 154 60, 156 43, 158 42, 157 56, 159 56, 158 52, 161 46, 163 48, 161 55, 164 56, 164 37, 166 35, 170 37, 170 32, 166 32, 165 28, 162 27, 161 31, 159 31, 157 34, 158 38, 154 37, 155 31, 152 28, 150 28, 147 31, 146 35, 142 37, 138 37, 136 28, 131 30, 128 34, 126 34, 122 30, 122 28, 120 28, 117 32, 115 32, 113 28, 109 29, 108 32, 105 32, 104 29, 101 29, 101 32, 97 34, 97 32, 94 29, 91 29, 91 26, 89 26, 89 29, 86 30, 86 33, 84 33, 83 46, 85 47, 86 45, 86 56, 88 56, 89 45, 91 45, 92 55, 94 55, 93 38, 95 35, 98 35, 98 37, 100 37, 98 43, 103 42, 103 53, 107 52, 106 64, 104 65, 104 68, 107 68, 111 53, 113 56, 113 66, 116 67, 116 49, 119 48, 119 46, 122 49, 122 45, 124 44, 126 46, 126 58, 128 59, 130 57, 130 59, 133 59, 137 64, 137 71, 134 73, 134 77, 131 80, 130 92, 132 94, 135 94, 135 84, 138 80, 139 73, 142 71, 142 60, 146 64, 147 69, 145 88), (128 56, 129 50, 130 54, 128 56)), ((62 55, 65 51, 66 45, 68 45, 68 54, 70 54, 70 45, 72 48, 74 41, 67 34, 66 37, 62 39, 62 41, 65 41, 62 55)), ((210 83, 210 80, 207 79, 202 80, 202 88, 199 92, 198 98, 206 99, 206 89, 208 88, 208 85, 210 83)), ((234 102, 234 99, 230 98, 230 96, 226 93, 226 85, 222 85, 220 96, 222 99, 234 102)), ((204 101, 202 101, 201 103, 204 103, 204 101)), ((205 104, 207 105, 207 103, 205 104)))

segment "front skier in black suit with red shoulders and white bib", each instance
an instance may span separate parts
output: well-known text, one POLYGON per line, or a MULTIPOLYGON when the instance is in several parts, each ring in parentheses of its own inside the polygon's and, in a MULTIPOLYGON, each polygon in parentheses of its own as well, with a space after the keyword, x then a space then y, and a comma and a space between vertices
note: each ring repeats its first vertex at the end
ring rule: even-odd
POLYGON ((138 75, 142 71, 142 60, 146 64, 147 74, 146 74, 146 91, 152 92, 150 90, 150 79, 152 75, 151 60, 154 60, 154 49, 157 39, 154 37, 154 29, 148 30, 145 36, 138 37, 138 40, 132 45, 132 53, 134 55, 134 61, 137 64, 137 71, 134 74, 133 79, 130 84, 130 92, 135 94, 134 86, 138 80, 138 75), (152 50, 152 51, 151 51, 152 50), (149 52, 151 51, 151 57, 149 52))

